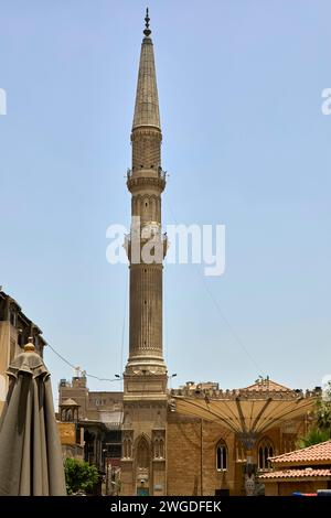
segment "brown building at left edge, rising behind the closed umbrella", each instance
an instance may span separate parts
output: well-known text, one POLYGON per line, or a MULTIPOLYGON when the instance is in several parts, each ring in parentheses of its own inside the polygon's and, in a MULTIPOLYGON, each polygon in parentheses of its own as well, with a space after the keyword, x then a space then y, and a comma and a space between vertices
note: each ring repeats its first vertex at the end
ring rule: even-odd
POLYGON ((43 356, 46 342, 42 331, 24 315, 14 299, 0 291, 0 414, 8 392, 6 370, 11 360, 23 352, 29 337, 32 337, 35 350, 43 356))

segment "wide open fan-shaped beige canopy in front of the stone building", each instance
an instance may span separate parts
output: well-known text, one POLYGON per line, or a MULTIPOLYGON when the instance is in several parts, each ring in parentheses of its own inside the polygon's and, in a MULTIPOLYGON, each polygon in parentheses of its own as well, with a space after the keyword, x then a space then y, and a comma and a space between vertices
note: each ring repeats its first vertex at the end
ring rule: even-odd
POLYGON ((173 396, 179 413, 218 421, 235 433, 260 434, 314 407, 314 397, 212 399, 173 396))

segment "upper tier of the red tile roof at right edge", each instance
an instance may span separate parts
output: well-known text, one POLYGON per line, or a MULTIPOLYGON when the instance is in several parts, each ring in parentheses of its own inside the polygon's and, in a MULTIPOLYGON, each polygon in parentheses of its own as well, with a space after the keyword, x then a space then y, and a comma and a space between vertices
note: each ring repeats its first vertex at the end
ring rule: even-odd
POLYGON ((275 457, 270 457, 274 464, 331 464, 331 440, 313 444, 312 446, 302 447, 295 452, 284 453, 275 457))

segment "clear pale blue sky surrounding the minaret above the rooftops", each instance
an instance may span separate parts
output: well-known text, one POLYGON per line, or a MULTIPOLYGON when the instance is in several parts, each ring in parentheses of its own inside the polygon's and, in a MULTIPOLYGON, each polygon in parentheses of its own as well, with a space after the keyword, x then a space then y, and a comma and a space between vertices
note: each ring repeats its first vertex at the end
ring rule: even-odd
MULTIPOLYGON (((206 279, 209 291, 195 267, 164 270, 173 386, 232 388, 260 374, 321 385, 331 371, 331 116, 321 114, 330 1, 149 7, 171 174, 163 220, 173 213, 227 233, 226 271, 206 279)), ((129 223, 124 175, 145 8, 2 0, 0 9, 0 284, 66 358, 110 378, 121 369, 127 268, 106 262, 106 228, 129 223)), ((124 364, 128 316, 125 326, 124 364)), ((72 376, 51 350, 45 359, 54 386, 72 376)))

